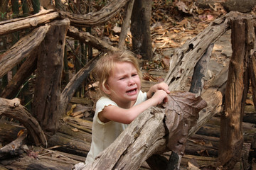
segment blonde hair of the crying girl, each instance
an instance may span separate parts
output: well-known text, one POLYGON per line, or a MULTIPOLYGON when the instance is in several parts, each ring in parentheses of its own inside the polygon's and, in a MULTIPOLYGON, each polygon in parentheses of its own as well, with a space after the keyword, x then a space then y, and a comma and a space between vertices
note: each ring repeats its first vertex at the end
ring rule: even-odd
POLYGON ((100 57, 100 60, 97 61, 95 68, 93 70, 97 81, 99 81, 100 94, 102 96, 107 96, 104 90, 107 86, 107 80, 110 77, 114 64, 117 62, 129 62, 139 74, 139 79, 142 79, 142 72, 139 69, 139 62, 132 52, 129 51, 117 51, 109 52, 104 56, 100 57))

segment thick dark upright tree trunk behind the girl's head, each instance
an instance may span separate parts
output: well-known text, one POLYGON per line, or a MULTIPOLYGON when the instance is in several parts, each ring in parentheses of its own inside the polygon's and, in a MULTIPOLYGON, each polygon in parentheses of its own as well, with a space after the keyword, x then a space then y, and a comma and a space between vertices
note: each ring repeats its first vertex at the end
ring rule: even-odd
POLYGON ((144 60, 152 60, 151 46, 151 0, 134 1, 132 10, 132 51, 138 55, 142 55, 144 60))

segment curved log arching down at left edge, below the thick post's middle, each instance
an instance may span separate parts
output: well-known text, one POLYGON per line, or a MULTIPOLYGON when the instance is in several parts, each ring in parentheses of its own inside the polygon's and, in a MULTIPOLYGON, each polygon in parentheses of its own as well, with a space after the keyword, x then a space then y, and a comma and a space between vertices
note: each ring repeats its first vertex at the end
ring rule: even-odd
POLYGON ((38 121, 20 105, 18 98, 12 100, 0 98, 0 108, 1 115, 14 118, 24 125, 35 145, 47 146, 46 136, 38 121))

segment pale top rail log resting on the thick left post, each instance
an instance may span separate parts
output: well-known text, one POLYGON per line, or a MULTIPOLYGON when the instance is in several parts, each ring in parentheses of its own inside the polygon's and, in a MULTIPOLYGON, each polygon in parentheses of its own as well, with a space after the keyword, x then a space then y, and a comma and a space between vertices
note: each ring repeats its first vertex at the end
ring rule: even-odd
MULTIPOLYGON (((33 28, 45 23, 49 23, 58 18, 59 14, 53 10, 44 10, 39 13, 26 18, 15 18, 0 22, 0 35, 13 33, 17 30, 24 30, 26 28, 33 28)), ((43 40, 43 38, 41 38, 43 40)))

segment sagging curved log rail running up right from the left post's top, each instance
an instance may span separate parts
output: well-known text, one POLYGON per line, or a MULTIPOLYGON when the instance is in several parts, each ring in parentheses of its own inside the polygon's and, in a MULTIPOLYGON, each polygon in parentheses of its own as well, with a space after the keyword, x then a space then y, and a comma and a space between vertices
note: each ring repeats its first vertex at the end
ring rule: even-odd
POLYGON ((61 18, 69 18, 71 26, 90 27, 105 23, 114 17, 129 0, 113 0, 100 11, 79 15, 59 11, 61 18))

